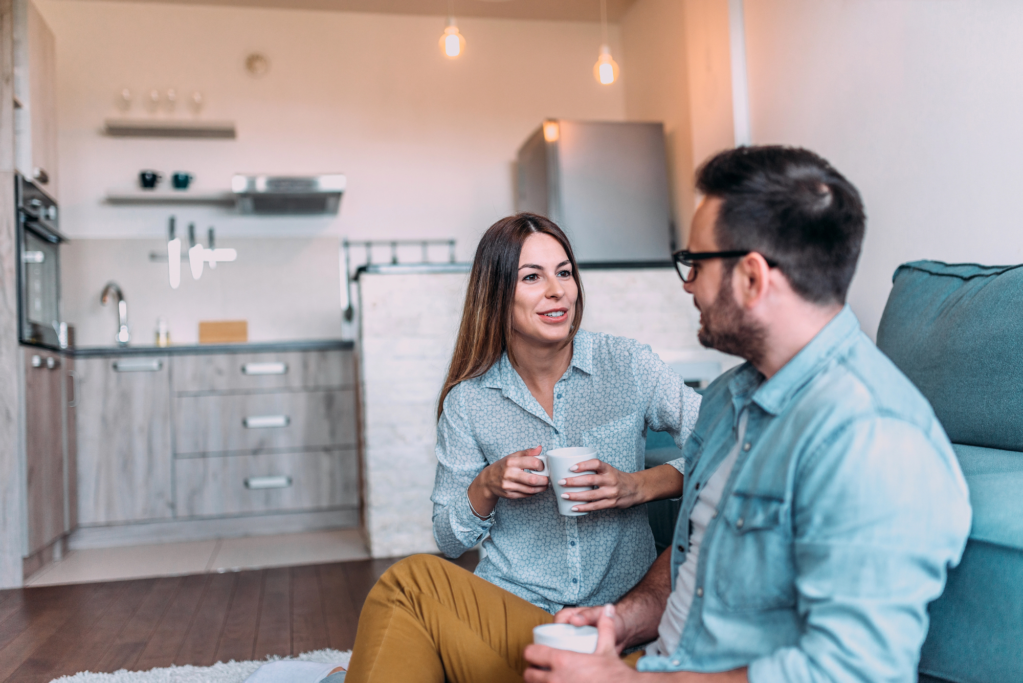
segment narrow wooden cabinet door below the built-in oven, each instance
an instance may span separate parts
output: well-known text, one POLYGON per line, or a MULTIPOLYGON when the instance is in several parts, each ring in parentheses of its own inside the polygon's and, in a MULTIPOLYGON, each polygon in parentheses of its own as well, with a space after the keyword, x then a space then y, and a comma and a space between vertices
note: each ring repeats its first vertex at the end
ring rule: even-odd
POLYGON ((56 354, 24 351, 26 501, 32 554, 65 531, 63 372, 56 354))

